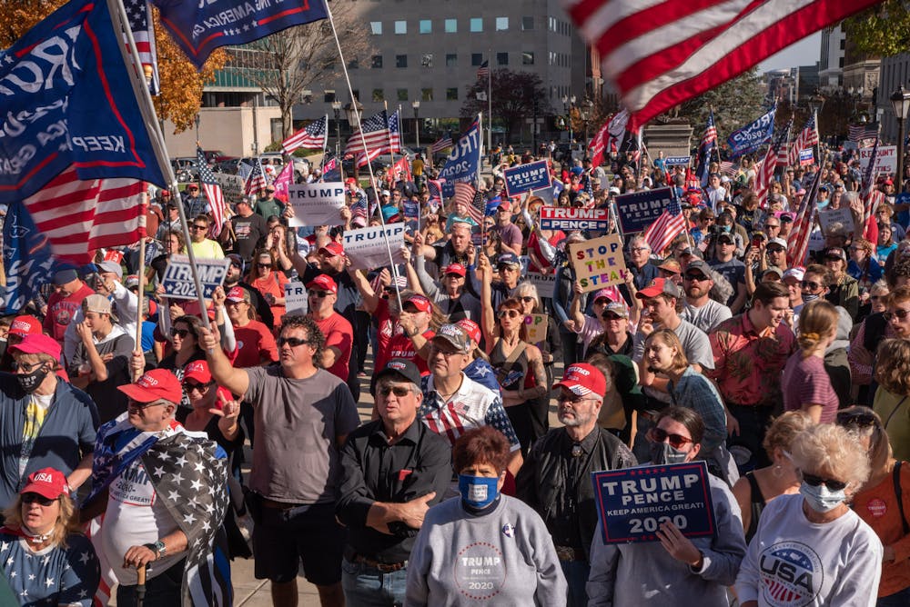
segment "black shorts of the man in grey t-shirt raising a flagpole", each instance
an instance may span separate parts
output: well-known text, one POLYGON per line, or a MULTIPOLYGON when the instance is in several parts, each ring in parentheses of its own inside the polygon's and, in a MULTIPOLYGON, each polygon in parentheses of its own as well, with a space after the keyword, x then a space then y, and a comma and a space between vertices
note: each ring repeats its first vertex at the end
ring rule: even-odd
POLYGON ((262 520, 253 528, 256 579, 276 583, 303 575, 317 586, 341 581, 341 554, 346 533, 335 520, 335 504, 302 505, 288 510, 263 508, 262 520))

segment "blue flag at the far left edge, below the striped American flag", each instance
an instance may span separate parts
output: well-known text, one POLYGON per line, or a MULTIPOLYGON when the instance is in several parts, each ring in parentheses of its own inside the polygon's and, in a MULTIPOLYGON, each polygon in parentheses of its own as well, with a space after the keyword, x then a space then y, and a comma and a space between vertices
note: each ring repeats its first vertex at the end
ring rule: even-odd
POLYGON ((15 314, 51 282, 54 257, 47 236, 38 232, 25 204, 19 201, 6 210, 3 244, 4 313, 15 314))

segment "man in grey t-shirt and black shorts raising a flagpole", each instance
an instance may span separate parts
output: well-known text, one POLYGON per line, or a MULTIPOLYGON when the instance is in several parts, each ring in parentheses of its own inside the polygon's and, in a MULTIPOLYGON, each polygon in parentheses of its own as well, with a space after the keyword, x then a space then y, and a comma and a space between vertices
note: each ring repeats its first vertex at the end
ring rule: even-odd
POLYGON ((248 504, 256 577, 272 582, 272 601, 297 598, 298 563, 323 605, 344 604, 344 533, 335 519, 339 448, 359 425, 354 398, 335 375, 319 369, 325 336, 308 316, 288 315, 278 333, 278 366, 235 369, 202 331, 212 377, 253 404, 256 443, 248 504))

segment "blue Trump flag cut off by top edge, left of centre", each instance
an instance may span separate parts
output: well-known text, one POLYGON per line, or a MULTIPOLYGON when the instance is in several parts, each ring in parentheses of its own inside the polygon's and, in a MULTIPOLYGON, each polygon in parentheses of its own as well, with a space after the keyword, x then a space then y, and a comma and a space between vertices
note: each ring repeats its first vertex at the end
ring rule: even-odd
POLYGON ((218 46, 245 45, 329 16, 324 0, 152 0, 152 4, 197 69, 218 46))

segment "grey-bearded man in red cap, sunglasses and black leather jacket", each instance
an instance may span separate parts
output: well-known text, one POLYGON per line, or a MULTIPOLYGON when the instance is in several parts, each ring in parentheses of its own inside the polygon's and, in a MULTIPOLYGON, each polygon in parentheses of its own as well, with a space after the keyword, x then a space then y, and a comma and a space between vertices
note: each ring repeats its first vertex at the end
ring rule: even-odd
POLYGON ((553 385, 561 428, 541 437, 515 479, 516 496, 536 510, 553 536, 569 583, 568 605, 585 607, 588 555, 597 527, 591 473, 638 462, 628 447, 597 424, 607 380, 596 367, 576 363, 553 385))

